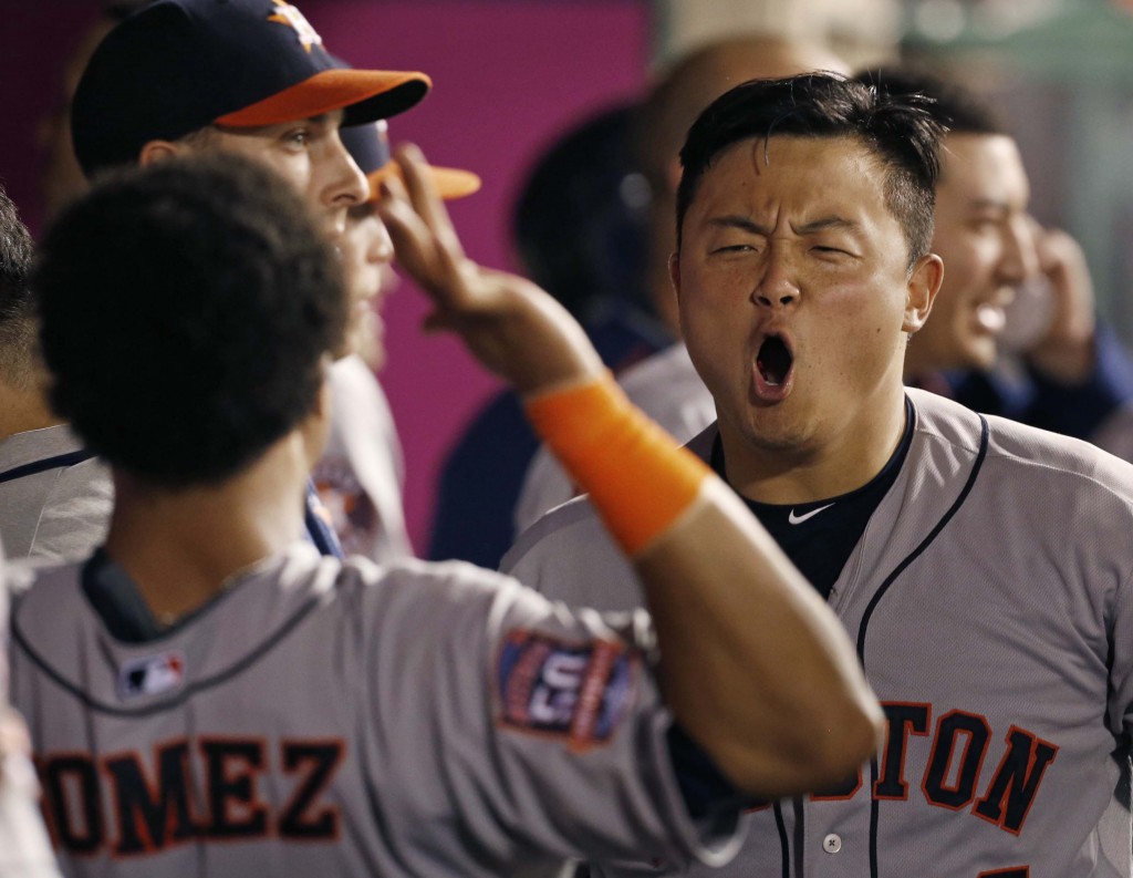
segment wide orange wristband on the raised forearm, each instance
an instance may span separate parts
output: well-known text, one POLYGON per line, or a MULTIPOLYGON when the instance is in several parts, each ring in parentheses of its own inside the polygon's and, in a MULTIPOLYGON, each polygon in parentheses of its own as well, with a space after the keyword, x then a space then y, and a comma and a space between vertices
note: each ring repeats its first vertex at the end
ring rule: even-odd
POLYGON ((634 408, 608 375, 535 397, 525 407, 631 557, 676 522, 710 472, 634 408))

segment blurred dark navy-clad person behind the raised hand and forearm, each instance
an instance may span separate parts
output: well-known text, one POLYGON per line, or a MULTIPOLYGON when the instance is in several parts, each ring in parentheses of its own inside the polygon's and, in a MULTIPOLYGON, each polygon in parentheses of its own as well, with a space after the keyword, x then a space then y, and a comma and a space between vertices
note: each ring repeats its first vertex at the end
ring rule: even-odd
MULTIPOLYGON (((645 285, 644 179, 630 157, 631 107, 587 118, 536 162, 511 229, 525 273, 582 324, 615 373, 672 340, 645 285)), ((539 441, 511 390, 458 437, 437 489, 429 558, 495 567, 539 441)))

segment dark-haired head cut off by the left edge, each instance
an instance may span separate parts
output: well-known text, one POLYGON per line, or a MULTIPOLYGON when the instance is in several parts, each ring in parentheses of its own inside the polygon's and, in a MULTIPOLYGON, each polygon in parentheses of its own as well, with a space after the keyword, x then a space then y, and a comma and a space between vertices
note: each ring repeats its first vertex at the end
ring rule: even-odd
POLYGON ((29 288, 34 244, 0 186, 0 380, 23 389, 35 341, 29 288))

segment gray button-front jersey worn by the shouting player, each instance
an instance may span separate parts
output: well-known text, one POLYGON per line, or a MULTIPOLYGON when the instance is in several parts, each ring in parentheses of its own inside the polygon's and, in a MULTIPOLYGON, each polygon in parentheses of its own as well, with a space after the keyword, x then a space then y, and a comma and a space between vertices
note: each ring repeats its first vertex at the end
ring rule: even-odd
MULTIPOLYGON (((1133 467, 909 396, 908 457, 829 597, 887 735, 841 788, 748 814, 719 873, 1127 878, 1115 791, 1127 796, 1133 721, 1133 467)), ((690 447, 707 457, 714 436, 690 447)), ((640 603, 583 500, 536 524, 503 566, 568 602, 640 603)))

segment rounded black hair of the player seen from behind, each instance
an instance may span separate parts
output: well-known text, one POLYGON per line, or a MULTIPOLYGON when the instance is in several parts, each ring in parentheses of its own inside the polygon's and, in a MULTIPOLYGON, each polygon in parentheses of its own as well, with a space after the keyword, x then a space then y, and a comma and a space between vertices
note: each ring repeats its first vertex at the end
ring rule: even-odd
POLYGON ((230 153, 111 172, 50 228, 33 286, 54 410, 162 488, 221 482, 299 424, 347 323, 306 204, 230 153))

